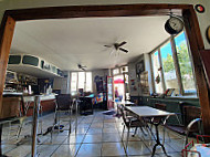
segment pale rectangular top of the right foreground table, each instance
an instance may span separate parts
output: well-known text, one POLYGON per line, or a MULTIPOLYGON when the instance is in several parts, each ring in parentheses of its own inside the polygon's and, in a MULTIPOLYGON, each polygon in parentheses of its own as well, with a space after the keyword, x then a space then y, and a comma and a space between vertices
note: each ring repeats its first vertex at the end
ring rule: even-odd
POLYGON ((141 117, 170 116, 175 113, 164 112, 149 106, 126 106, 127 109, 141 117))

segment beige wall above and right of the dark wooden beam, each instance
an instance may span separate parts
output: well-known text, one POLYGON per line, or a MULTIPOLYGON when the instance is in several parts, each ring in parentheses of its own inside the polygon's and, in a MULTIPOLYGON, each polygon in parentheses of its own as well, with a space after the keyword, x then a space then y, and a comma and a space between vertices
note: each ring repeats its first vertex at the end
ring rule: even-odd
POLYGON ((130 4, 130 3, 201 3, 206 7, 204 13, 197 13, 206 49, 210 44, 206 40, 206 29, 210 24, 210 0, 0 0, 0 20, 7 9, 25 9, 57 6, 90 6, 90 4, 130 4))

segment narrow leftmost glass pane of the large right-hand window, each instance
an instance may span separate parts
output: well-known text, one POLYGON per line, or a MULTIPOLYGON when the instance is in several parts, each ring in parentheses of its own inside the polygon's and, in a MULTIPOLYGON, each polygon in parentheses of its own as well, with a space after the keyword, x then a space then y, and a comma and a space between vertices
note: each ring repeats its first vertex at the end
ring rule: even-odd
POLYGON ((151 54, 151 62, 153 62, 156 93, 162 93, 164 90, 162 90, 161 74, 160 74, 160 71, 158 71, 158 69, 160 67, 158 51, 151 54))

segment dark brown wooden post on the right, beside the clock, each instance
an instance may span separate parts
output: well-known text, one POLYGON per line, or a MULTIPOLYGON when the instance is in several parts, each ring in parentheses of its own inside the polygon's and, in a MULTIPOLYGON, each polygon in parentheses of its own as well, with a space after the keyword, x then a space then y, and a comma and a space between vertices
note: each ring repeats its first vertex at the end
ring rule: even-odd
POLYGON ((192 54, 192 61, 195 65, 195 74, 198 85, 198 95, 200 101, 200 107, 202 113, 202 123, 204 134, 210 134, 210 100, 209 88, 207 84, 207 77, 202 67, 202 60, 199 55, 199 51, 203 50, 202 39, 198 36, 200 34, 198 19, 193 8, 183 11, 183 19, 186 23, 186 32, 189 39, 189 44, 192 54))

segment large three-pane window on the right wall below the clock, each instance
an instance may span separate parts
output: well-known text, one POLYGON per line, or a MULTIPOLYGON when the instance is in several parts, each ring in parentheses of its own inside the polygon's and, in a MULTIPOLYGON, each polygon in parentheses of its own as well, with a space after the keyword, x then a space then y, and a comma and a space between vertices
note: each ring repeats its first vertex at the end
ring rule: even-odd
POLYGON ((164 93, 167 88, 175 88, 176 94, 180 95, 196 93, 185 32, 176 38, 171 36, 158 46, 150 57, 156 93, 164 93))

